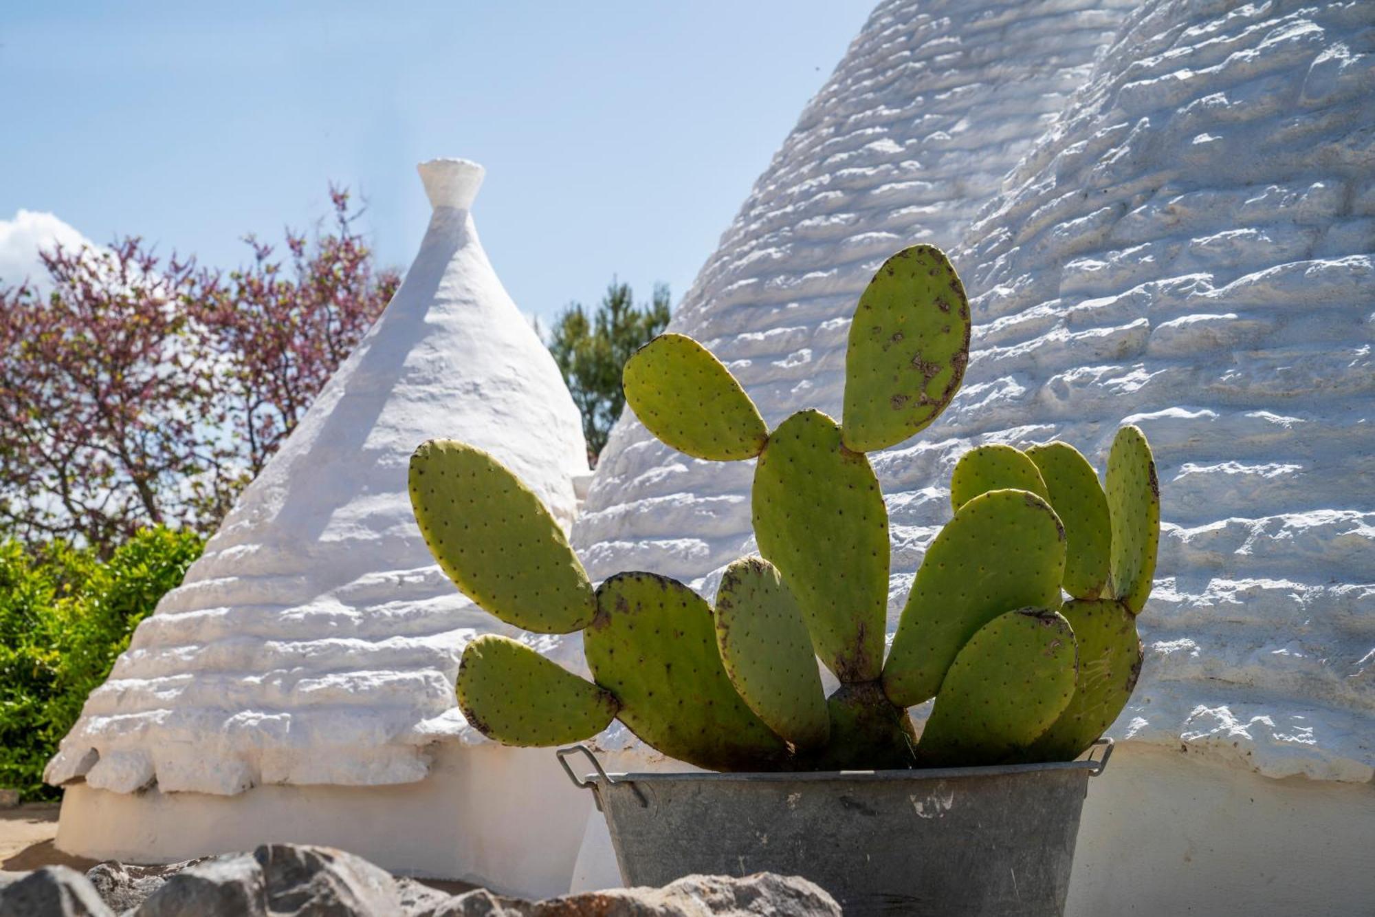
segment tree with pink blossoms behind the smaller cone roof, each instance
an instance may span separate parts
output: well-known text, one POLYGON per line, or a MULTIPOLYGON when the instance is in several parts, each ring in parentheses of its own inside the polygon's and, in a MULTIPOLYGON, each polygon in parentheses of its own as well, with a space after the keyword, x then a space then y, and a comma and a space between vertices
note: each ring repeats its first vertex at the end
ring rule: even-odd
POLYGON ((0 533, 113 547, 208 533, 396 289, 348 194, 333 224, 248 237, 236 271, 138 237, 43 253, 48 289, 0 289, 0 533))

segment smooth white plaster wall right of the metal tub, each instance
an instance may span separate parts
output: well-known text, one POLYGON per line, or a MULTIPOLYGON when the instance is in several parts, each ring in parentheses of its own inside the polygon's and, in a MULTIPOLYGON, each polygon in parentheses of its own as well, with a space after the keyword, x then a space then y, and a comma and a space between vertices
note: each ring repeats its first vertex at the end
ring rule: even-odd
POLYGON ((1368 914, 1375 786, 1128 742, 1089 781, 1067 917, 1368 914))

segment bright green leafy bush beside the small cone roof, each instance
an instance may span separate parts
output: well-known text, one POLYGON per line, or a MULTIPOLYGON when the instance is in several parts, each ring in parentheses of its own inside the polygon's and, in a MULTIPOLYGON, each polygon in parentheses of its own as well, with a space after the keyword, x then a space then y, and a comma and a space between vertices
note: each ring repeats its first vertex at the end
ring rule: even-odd
POLYGON ((144 529, 102 563, 52 541, 0 544, 0 786, 58 794, 43 767, 139 621, 201 555, 191 531, 144 529))

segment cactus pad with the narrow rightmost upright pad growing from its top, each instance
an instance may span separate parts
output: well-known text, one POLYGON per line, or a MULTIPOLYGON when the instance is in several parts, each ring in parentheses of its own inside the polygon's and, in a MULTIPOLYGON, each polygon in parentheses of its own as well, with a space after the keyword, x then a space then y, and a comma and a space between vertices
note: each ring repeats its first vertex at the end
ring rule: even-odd
POLYGON ((1079 646, 1079 677, 1060 717, 1035 741, 1027 760, 1072 761, 1126 706, 1141 675, 1136 617, 1121 602, 1066 602, 1060 609, 1079 646))

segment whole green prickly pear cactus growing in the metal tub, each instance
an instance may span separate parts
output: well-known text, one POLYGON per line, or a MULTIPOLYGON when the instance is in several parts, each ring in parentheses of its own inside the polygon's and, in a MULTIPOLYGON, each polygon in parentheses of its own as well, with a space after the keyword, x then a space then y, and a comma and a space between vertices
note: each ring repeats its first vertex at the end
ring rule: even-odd
MULTIPOLYGON (((663 335, 624 370, 626 401, 668 446, 758 457, 762 556, 715 603, 652 571, 593 588, 558 525, 499 461, 432 441, 411 458, 415 519, 473 602, 536 633, 583 632, 593 680, 527 643, 468 646, 458 705, 512 745, 587 739, 620 719, 715 771, 972 767, 1071 760, 1116 719, 1141 668, 1159 483, 1145 435, 1118 431, 1104 483, 1068 443, 972 449, 884 658, 888 514, 865 454, 920 432, 969 359, 969 302, 936 248, 886 260, 850 328, 844 416, 774 430, 730 370, 663 335), (820 665, 840 687, 826 697, 820 665), (918 735, 908 708, 935 699, 918 735)), ((534 640, 531 640, 534 642, 534 640)))

